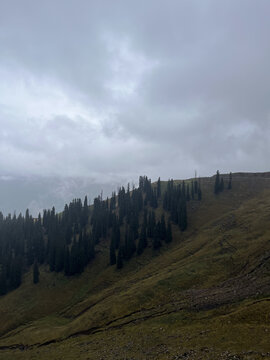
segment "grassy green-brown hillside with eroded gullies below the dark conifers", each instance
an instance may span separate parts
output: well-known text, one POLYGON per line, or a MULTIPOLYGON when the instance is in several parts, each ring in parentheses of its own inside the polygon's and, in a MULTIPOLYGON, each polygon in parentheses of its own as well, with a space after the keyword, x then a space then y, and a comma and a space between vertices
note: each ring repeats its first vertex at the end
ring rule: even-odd
POLYGON ((214 182, 184 232, 120 270, 103 239, 81 275, 26 273, 0 297, 0 359, 270 358, 270 173, 214 182))

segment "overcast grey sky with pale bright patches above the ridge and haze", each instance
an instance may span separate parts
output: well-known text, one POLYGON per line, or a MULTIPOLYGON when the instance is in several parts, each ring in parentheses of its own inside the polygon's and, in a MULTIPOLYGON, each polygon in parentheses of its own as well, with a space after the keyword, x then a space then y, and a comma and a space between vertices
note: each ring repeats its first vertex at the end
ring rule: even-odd
POLYGON ((0 176, 270 168, 269 0, 1 0, 0 176))

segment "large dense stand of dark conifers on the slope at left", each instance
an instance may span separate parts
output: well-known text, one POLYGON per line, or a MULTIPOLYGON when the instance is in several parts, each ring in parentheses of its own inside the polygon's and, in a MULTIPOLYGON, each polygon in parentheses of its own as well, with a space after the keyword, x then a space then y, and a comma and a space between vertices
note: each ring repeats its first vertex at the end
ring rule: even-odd
POLYGON ((185 231, 187 203, 200 201, 200 181, 175 183, 162 188, 140 176, 139 186, 128 185, 111 198, 98 196, 92 206, 87 196, 66 204, 61 213, 55 208, 33 218, 0 213, 0 294, 20 286, 22 275, 32 267, 33 282, 39 282, 39 266, 66 276, 80 274, 96 254, 96 245, 109 241, 110 265, 118 269, 147 247, 159 249, 172 241, 172 224, 185 231), (159 208, 157 212, 156 209, 159 208))

